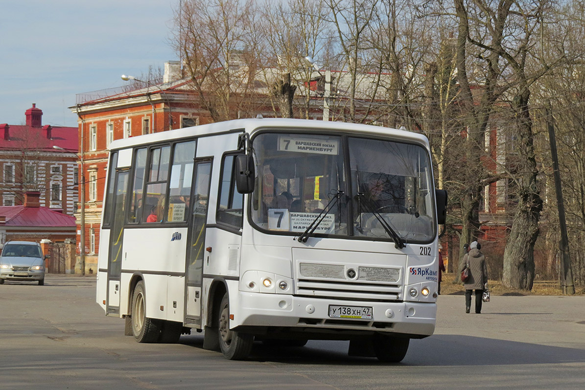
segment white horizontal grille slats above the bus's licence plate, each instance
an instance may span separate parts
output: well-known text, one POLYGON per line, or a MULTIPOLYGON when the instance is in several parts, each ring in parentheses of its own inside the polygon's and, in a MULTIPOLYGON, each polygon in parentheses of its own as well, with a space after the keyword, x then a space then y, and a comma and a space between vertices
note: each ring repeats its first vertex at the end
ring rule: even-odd
POLYGON ((401 287, 396 284, 336 282, 299 279, 296 294, 347 301, 398 301, 401 287))

